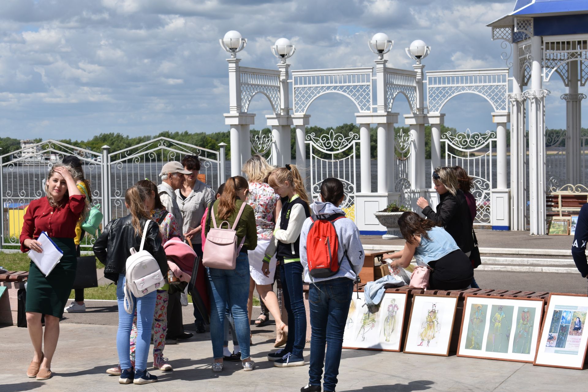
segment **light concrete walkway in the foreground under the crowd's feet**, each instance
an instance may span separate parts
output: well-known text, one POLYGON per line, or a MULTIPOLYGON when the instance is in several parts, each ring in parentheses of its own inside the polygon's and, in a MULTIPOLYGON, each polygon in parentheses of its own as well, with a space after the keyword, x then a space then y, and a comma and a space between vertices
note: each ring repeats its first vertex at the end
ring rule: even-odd
MULTIPOLYGON (((115 326, 61 324, 61 339, 54 357, 55 376, 47 381, 26 377, 31 343, 26 329, 0 329, 2 361, 0 391, 299 391, 308 383, 308 364, 274 368, 265 359, 273 350, 273 339, 253 330, 252 358, 257 368, 242 370, 239 363, 226 363, 222 373, 212 373, 209 334, 168 346, 165 356, 175 370, 153 371, 158 383, 121 386, 118 377, 105 373, 116 364, 115 326)), ((309 344, 305 357, 309 359, 309 344)), ((151 366, 151 363, 149 363, 151 366)), ((586 374, 580 370, 535 367, 532 364, 436 357, 381 351, 343 350, 338 391, 582 391, 586 374)))

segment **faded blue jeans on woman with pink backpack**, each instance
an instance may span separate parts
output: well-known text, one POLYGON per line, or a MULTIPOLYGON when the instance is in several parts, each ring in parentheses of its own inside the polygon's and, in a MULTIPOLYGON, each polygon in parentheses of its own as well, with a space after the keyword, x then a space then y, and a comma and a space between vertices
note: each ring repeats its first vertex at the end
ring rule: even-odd
POLYGON ((241 359, 249 358, 249 314, 247 300, 249 298, 249 257, 246 252, 237 256, 234 270, 206 268, 211 282, 211 340, 212 354, 215 359, 223 357, 223 341, 225 340, 225 313, 229 304, 235 334, 241 349, 241 359))

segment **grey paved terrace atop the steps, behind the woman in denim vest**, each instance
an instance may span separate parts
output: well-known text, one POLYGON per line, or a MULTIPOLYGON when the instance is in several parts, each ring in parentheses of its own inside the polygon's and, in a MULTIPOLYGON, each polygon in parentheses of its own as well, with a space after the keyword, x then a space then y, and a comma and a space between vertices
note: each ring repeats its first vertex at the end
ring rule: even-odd
MULTIPOLYGON (((514 249, 572 249, 573 236, 530 236, 529 232, 476 230, 480 247, 514 249)), ((362 243, 373 245, 403 245, 404 240, 385 240, 382 236, 361 236, 362 243)))

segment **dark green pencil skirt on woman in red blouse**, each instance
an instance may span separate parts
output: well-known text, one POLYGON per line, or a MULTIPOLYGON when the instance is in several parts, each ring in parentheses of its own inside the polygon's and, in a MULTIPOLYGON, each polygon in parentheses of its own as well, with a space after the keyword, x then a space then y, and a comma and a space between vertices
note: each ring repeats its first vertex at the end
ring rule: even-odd
POLYGON ((29 280, 26 284, 25 310, 61 318, 74 286, 78 259, 73 238, 51 239, 64 252, 64 256, 49 276, 45 276, 31 261, 29 280))

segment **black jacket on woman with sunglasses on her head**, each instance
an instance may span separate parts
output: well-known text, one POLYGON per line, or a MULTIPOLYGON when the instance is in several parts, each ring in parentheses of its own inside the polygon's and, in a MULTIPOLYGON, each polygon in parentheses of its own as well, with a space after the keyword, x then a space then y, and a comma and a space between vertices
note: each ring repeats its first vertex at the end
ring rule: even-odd
POLYGON ((472 219, 466 197, 461 190, 457 190, 455 196, 450 192, 440 195, 437 212, 430 206, 423 209, 423 215, 433 220, 437 226, 443 227, 453 237, 459 249, 463 253, 474 249, 472 236, 472 219))

